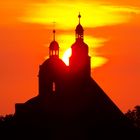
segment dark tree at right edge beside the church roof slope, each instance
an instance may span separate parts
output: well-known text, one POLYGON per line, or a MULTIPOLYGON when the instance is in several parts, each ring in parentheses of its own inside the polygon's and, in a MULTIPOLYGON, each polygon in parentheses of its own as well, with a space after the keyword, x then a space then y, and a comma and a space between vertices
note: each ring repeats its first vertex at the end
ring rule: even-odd
POLYGON ((132 110, 129 109, 125 115, 136 128, 140 129, 140 105, 135 106, 132 110))

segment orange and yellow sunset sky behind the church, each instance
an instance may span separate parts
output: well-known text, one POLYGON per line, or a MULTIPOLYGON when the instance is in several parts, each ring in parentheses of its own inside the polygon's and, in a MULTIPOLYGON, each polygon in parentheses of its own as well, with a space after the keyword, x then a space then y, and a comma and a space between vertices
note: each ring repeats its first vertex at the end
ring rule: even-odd
POLYGON ((79 12, 92 77, 123 112, 140 105, 140 0, 6 0, 0 1, 1 115, 38 94, 53 22, 66 59, 79 12))

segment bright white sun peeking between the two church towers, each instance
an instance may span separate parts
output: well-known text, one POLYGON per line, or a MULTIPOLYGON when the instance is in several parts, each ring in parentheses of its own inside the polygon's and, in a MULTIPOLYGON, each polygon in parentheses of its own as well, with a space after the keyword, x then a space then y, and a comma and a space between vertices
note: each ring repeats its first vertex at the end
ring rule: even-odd
POLYGON ((64 55, 62 57, 62 60, 64 61, 64 63, 69 66, 69 57, 71 56, 72 52, 71 52, 71 48, 68 48, 65 52, 64 55))

